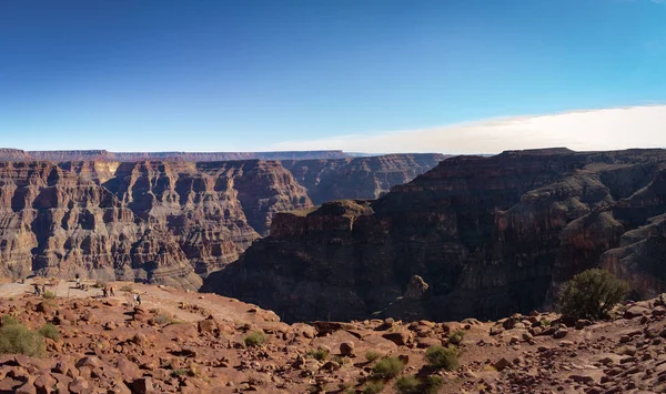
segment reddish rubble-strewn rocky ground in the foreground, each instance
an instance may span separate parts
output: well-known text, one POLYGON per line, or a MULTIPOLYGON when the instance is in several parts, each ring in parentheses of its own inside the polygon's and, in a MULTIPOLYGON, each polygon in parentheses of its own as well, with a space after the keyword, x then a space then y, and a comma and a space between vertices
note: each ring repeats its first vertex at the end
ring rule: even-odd
MULTIPOLYGON (((113 285, 115 296, 103 299, 61 281, 49 289, 53 300, 31 294, 30 282, 0 285, 1 315, 32 330, 51 322, 61 336, 44 340, 42 357, 0 355, 0 393, 364 393, 373 352, 406 362, 402 376, 441 376, 440 393, 666 392, 658 299, 623 305, 608 322, 534 312, 497 322, 289 325, 233 299, 113 285), (132 292, 141 306, 130 304, 132 292), (249 337, 262 334, 252 346, 249 337), (426 348, 453 342, 461 366, 430 367, 426 348)), ((396 377, 384 382, 382 393, 397 392, 396 377)))

